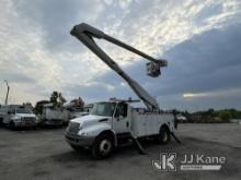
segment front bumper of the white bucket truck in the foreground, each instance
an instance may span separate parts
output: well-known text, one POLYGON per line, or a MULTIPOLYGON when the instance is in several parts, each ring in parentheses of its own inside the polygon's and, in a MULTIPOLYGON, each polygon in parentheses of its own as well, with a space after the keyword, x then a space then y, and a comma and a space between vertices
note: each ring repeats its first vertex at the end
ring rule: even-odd
POLYGON ((71 134, 69 132, 65 133, 66 136, 66 141, 70 144, 70 145, 77 145, 77 146, 91 146, 94 142, 94 136, 81 136, 78 134, 71 134))

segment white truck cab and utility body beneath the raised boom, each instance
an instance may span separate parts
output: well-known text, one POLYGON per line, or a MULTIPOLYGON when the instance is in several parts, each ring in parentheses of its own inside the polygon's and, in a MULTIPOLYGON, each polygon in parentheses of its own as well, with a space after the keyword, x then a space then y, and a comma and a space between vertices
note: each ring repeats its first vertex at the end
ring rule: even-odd
POLYGON ((72 148, 90 147, 94 157, 104 158, 133 136, 154 137, 167 144, 173 130, 171 113, 138 110, 127 101, 101 101, 90 115, 70 120, 65 136, 72 148))

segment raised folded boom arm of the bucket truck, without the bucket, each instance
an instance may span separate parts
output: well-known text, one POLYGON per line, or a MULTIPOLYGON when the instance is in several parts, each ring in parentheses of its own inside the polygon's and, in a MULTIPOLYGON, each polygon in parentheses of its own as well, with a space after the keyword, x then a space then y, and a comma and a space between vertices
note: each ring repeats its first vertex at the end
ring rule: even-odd
POLYGON ((105 62, 111 69, 113 69, 116 73, 118 73, 133 88, 133 91, 139 96, 139 98, 145 103, 145 105, 148 107, 148 109, 157 109, 159 110, 159 105, 157 100, 149 95, 148 92, 146 92, 136 81, 134 81, 128 74, 126 74, 118 64, 108 57, 93 40, 93 37, 95 38, 103 38, 107 41, 111 41, 117 46, 120 46, 129 51, 133 51, 149 61, 154 62, 156 64, 160 67, 167 67, 168 62, 165 60, 157 60, 135 48, 131 46, 128 46, 118 39, 115 39, 100 29, 96 29, 88 24, 81 23, 79 25, 76 25, 70 34, 72 36, 76 36, 80 41, 82 41, 92 52, 94 52, 103 62, 105 62))

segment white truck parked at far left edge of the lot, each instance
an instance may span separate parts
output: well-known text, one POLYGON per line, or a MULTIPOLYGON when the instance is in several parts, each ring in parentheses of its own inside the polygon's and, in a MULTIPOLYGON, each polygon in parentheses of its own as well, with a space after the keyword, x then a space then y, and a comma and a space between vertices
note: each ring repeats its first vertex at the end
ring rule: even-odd
POLYGON ((22 105, 4 105, 0 107, 0 122, 11 130, 19 127, 36 127, 37 117, 22 105))

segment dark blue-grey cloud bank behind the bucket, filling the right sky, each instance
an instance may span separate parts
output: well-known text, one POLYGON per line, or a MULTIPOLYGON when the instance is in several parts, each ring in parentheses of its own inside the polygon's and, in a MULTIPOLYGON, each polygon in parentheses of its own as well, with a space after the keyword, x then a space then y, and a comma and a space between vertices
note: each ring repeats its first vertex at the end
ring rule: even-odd
MULTIPOLYGON (((124 70, 157 97, 162 108, 205 108, 208 103, 204 99, 207 101, 215 99, 215 103, 220 99, 217 105, 213 103, 209 107, 221 107, 221 105, 227 107, 222 103, 223 97, 228 99, 227 93, 229 93, 227 104, 240 107, 239 98, 234 98, 238 94, 230 91, 241 87, 240 27, 241 24, 236 24, 221 29, 211 29, 165 51, 163 57, 170 63, 163 69, 161 77, 148 77, 145 61, 124 67, 124 70), (186 101, 187 99, 193 101, 186 101)), ((112 71, 106 71, 96 80, 110 83, 114 87, 123 82, 112 71)), ((123 91, 115 88, 117 95, 123 91)))

